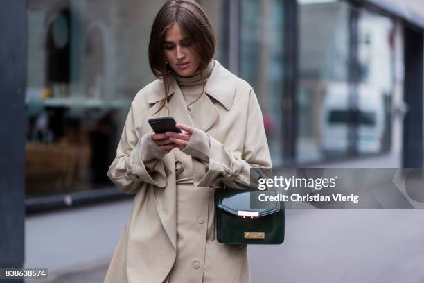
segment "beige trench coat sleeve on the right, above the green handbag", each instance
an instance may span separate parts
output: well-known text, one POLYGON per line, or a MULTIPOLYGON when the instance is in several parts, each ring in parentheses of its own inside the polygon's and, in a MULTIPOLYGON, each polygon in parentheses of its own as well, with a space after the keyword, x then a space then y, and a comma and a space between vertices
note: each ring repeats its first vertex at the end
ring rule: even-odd
POLYGON ((253 89, 249 93, 241 156, 232 153, 220 141, 198 129, 193 132, 183 152, 192 156, 193 182, 196 186, 207 187, 223 182, 229 187, 247 189, 250 186, 252 167, 271 167, 262 112, 253 89))

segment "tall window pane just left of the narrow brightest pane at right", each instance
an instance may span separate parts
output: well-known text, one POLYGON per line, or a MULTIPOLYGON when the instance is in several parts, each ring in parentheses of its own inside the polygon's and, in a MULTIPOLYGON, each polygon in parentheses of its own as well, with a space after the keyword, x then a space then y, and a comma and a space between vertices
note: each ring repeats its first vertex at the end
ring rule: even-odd
POLYGON ((297 162, 348 154, 349 8, 298 1, 297 162))

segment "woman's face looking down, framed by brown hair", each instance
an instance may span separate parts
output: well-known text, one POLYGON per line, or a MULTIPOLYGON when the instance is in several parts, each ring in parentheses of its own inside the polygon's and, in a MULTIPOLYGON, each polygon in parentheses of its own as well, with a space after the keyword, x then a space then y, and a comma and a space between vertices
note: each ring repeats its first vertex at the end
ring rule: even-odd
POLYGON ((200 65, 200 58, 195 51, 195 44, 178 24, 166 31, 164 54, 168 64, 179 76, 191 76, 200 65))

